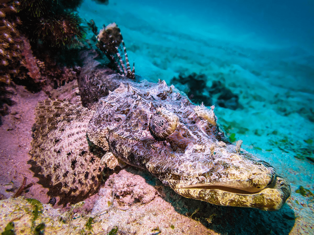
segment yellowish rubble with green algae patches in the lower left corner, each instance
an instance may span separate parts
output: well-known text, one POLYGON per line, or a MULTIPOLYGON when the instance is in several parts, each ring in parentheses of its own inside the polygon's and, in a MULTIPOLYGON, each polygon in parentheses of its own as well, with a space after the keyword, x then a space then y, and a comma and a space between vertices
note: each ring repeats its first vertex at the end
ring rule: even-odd
POLYGON ((57 209, 53 209, 50 204, 45 205, 44 209, 44 205, 39 201, 35 199, 26 200, 23 197, 1 200, 1 204, 0 217, 3 218, 3 224, 0 224, 0 235, 88 235, 100 232, 101 226, 99 222, 96 222, 95 219, 93 220, 93 217, 90 219, 84 213, 73 212, 74 209, 80 210, 79 207, 84 203, 72 205, 69 211, 62 213, 57 209), (13 219, 14 227, 7 226, 5 229, 5 226, 13 219))

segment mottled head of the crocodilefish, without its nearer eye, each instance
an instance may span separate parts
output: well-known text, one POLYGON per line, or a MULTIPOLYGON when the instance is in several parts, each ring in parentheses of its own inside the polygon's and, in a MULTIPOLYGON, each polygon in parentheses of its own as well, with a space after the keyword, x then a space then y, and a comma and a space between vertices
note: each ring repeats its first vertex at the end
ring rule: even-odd
POLYGON ((85 84, 89 81, 89 93, 98 90, 101 77, 106 90, 112 90, 94 105, 87 135, 95 145, 148 170, 185 197, 216 205, 277 210, 290 196, 290 186, 272 166, 241 149, 241 144, 226 141, 214 107, 194 105, 165 81, 139 83, 118 74, 106 75, 107 71, 96 69, 80 78, 85 84), (111 79, 113 88, 121 82, 116 89, 108 85, 111 79), (155 113, 174 115, 178 120, 173 133, 165 138, 156 137, 149 127, 155 113))

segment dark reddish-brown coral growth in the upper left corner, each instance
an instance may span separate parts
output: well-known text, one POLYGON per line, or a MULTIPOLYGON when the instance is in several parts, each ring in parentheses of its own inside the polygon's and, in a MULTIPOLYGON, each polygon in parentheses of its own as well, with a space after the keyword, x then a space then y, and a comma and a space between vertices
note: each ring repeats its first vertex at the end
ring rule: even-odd
POLYGON ((34 52, 42 57, 36 48, 44 47, 45 54, 53 56, 49 53, 51 47, 78 44, 78 40, 84 37, 83 27, 80 26, 82 20, 69 9, 76 8, 80 2, 22 0, 19 3, 0 0, 0 82, 9 84, 15 77, 24 79, 26 74, 33 80, 31 84, 43 81, 41 76, 45 72, 39 68, 43 62, 36 59, 34 52), (32 45, 19 32, 23 32, 32 45))

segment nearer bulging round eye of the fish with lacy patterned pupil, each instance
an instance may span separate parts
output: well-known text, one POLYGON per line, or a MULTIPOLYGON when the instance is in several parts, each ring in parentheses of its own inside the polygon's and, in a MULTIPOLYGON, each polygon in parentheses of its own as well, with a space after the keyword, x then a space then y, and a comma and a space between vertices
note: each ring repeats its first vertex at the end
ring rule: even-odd
POLYGON ((176 130, 178 121, 176 114, 160 107, 150 117, 149 130, 155 137, 164 139, 176 130))

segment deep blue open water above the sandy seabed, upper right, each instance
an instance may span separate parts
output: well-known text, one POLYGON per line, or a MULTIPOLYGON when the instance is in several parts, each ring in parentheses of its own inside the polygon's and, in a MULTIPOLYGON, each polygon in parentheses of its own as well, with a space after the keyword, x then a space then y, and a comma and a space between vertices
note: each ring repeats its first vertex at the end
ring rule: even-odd
POLYGON ((221 24, 238 33, 254 32, 275 44, 314 49, 314 3, 311 0, 144 1, 140 4, 186 14, 191 20, 221 24))

